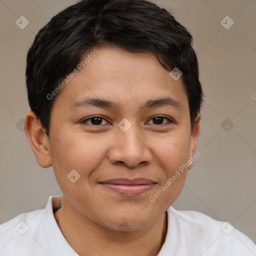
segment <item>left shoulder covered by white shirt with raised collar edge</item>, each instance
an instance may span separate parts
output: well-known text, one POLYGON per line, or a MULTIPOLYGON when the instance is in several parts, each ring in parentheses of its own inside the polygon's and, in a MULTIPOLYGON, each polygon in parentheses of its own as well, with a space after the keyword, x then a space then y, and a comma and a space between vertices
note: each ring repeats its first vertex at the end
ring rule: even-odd
POLYGON ((75 255, 65 241, 53 215, 60 196, 50 196, 45 207, 18 216, 0 225, 0 255, 75 255), (54 246, 52 246, 54 243, 54 246), (31 254, 32 253, 32 254, 31 254))

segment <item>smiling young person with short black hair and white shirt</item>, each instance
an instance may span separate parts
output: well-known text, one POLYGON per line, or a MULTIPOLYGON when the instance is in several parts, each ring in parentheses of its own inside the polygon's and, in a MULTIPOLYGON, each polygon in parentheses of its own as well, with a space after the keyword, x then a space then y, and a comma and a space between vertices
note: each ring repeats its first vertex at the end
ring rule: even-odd
POLYGON ((192 37, 145 0, 82 0, 27 54, 25 134, 62 196, 0 225, 0 255, 255 255, 228 223, 171 205, 200 154, 192 37))

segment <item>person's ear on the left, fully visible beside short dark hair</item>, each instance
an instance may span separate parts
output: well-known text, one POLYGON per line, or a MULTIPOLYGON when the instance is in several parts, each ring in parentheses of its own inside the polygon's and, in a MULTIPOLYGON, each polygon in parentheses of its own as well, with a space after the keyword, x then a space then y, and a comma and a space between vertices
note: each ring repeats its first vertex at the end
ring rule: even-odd
POLYGON ((25 115, 25 134, 37 163, 43 168, 50 167, 49 138, 41 122, 32 111, 28 111, 25 115))

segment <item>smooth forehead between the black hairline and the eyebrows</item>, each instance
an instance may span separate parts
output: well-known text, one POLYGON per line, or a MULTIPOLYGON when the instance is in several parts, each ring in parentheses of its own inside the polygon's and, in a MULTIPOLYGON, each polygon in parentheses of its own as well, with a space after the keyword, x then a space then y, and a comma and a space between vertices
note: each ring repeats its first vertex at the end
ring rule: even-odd
POLYGON ((173 99, 172 105, 175 101, 180 102, 181 108, 187 105, 182 79, 172 79, 153 53, 130 53, 115 46, 104 46, 98 48, 96 54, 87 52, 81 61, 84 59, 86 64, 83 63, 81 70, 76 68, 77 74, 56 98, 69 108, 88 96, 111 101, 116 108, 167 96, 173 99))

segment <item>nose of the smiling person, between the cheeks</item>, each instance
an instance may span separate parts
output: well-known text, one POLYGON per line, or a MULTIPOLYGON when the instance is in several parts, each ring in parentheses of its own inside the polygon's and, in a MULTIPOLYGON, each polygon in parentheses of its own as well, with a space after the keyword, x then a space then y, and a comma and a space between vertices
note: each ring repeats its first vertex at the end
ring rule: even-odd
POLYGON ((108 152, 108 159, 113 164, 132 168, 139 164, 148 164, 152 160, 152 153, 145 135, 142 135, 135 125, 131 125, 126 131, 118 127, 108 152))

